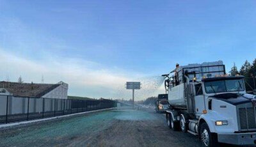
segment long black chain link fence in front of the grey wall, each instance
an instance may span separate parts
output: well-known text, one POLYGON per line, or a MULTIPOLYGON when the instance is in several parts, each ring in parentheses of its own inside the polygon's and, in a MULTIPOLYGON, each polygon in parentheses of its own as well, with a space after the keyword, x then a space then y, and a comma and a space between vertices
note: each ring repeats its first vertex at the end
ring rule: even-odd
POLYGON ((0 95, 0 123, 35 120, 116 107, 113 100, 24 98, 0 95))

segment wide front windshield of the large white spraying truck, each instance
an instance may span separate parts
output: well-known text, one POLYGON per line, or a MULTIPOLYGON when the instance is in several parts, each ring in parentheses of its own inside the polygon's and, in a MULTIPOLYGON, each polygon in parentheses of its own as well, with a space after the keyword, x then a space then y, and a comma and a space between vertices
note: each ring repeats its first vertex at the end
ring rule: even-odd
POLYGON ((243 79, 205 82, 206 93, 244 91, 243 79))

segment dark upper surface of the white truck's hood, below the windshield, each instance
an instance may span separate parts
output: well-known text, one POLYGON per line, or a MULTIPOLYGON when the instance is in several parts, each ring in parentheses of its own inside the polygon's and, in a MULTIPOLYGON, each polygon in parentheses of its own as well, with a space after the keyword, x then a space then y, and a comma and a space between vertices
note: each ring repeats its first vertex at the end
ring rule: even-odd
POLYGON ((209 98, 215 98, 218 100, 222 100, 232 105, 239 105, 245 103, 252 103, 252 100, 255 100, 254 95, 249 94, 239 94, 239 93, 223 93, 219 95, 213 95, 209 98))

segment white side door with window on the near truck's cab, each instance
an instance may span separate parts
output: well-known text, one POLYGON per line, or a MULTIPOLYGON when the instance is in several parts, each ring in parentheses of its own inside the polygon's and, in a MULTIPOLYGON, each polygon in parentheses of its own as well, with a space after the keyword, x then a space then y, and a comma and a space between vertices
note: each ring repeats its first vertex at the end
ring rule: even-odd
POLYGON ((204 93, 202 84, 195 84, 195 112, 196 114, 203 114, 205 109, 204 93))

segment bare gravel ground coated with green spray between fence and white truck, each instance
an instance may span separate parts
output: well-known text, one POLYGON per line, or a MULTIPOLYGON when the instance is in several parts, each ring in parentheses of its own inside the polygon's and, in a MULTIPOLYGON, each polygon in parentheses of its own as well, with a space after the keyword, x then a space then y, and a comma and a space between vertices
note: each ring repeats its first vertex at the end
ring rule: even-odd
POLYGON ((0 130, 0 146, 202 146, 153 110, 119 109, 0 130))

